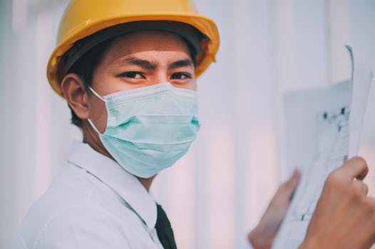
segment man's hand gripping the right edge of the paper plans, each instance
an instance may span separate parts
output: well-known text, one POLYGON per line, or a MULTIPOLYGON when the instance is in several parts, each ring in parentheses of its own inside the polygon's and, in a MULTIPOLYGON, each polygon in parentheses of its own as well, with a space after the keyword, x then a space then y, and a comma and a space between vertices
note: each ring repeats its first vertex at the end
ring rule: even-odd
POLYGON ((329 175, 301 249, 371 247, 375 199, 362 182, 368 171, 366 161, 354 157, 329 175))

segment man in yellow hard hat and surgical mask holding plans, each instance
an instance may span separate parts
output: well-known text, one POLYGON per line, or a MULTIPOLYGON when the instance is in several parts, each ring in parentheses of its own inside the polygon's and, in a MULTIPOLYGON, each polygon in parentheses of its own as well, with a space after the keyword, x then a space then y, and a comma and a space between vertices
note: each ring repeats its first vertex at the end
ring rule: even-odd
MULTIPOLYGON (((48 80, 83 142, 30 209, 14 248, 175 248, 148 194, 199 129, 195 78, 215 58, 215 23, 188 1, 76 0, 68 6, 48 80)), ((375 203, 366 162, 329 176, 301 248, 369 248, 375 203)), ((299 180, 280 186, 248 248, 269 248, 299 180)))

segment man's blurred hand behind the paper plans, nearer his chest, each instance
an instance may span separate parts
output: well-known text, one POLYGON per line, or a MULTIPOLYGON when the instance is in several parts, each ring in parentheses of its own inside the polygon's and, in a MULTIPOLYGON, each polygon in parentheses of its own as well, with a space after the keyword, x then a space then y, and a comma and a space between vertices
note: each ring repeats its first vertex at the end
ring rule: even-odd
POLYGON ((274 236, 279 230, 279 226, 287 212, 298 182, 299 171, 295 170, 289 181, 279 186, 260 223, 248 235, 250 243, 254 248, 271 248, 274 236))

